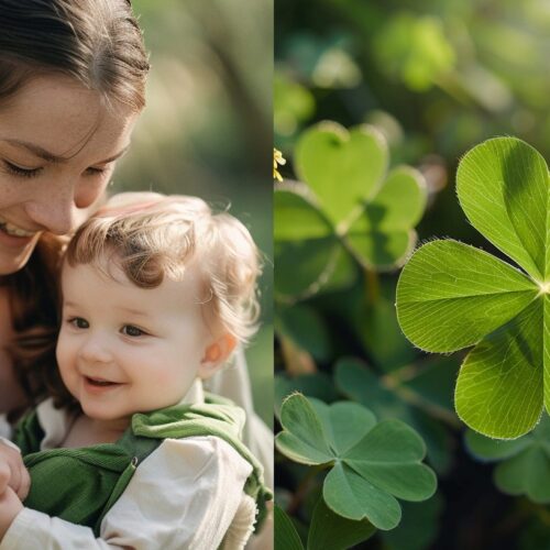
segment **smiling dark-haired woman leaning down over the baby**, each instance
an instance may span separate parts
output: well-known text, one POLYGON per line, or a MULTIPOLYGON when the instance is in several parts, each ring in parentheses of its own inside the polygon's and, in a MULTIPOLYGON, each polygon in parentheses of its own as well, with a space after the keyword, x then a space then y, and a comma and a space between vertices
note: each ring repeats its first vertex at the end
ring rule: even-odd
POLYGON ((102 200, 147 70, 128 0, 0 0, 0 411, 11 418, 55 372, 56 265, 43 249, 102 200))

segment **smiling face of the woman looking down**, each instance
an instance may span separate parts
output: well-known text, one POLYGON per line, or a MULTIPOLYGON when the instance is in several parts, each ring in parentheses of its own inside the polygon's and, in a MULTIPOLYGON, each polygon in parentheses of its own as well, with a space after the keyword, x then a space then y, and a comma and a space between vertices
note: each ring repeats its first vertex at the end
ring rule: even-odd
POLYGON ((42 231, 86 218, 130 144, 138 114, 65 76, 38 76, 0 102, 0 275, 23 267, 42 231))

